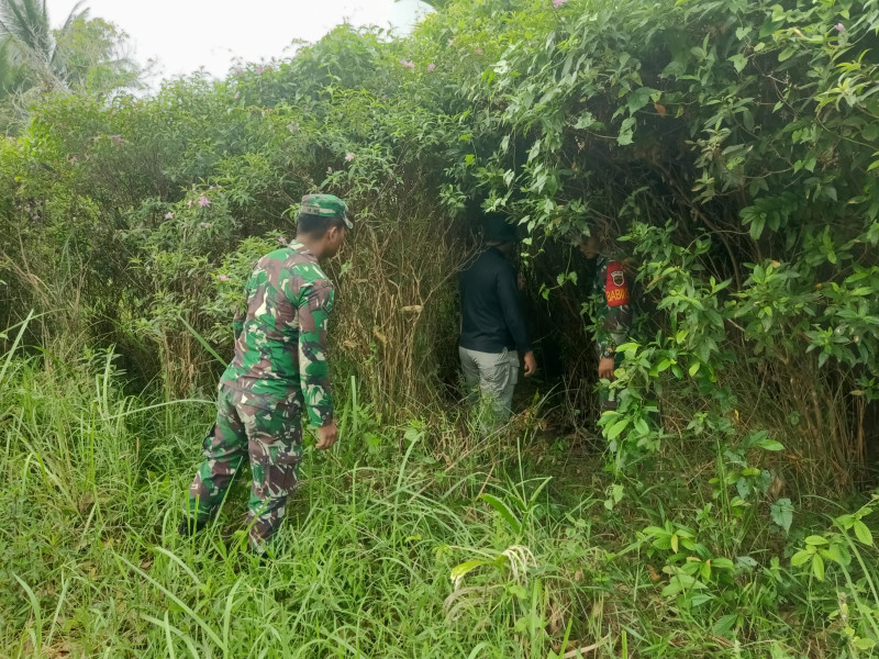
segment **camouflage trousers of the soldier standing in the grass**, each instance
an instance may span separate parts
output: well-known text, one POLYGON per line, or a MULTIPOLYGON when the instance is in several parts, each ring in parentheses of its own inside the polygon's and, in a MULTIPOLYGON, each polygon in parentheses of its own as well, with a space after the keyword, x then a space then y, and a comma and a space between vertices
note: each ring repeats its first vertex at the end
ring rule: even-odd
POLYGON ((189 487, 188 514, 213 515, 248 456, 253 483, 247 504, 251 547, 264 551, 283 520, 287 498, 296 491, 302 459, 299 407, 220 386, 216 423, 204 438, 204 461, 189 487))

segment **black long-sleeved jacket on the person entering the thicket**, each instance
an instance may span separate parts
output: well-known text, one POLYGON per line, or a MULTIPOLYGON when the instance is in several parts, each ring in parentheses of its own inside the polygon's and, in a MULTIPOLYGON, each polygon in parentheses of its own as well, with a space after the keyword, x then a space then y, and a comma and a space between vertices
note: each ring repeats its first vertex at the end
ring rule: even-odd
POLYGON ((503 254, 489 247, 460 275, 460 346, 480 353, 531 350, 516 276, 503 254))

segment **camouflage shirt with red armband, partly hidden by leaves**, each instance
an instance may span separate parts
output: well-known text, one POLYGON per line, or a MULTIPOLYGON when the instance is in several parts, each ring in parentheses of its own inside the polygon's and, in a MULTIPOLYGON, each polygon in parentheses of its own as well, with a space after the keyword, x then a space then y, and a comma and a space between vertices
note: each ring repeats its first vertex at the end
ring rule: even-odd
POLYGON ((591 298, 599 358, 613 357, 616 346, 628 339, 632 326, 630 276, 621 260, 603 255, 596 258, 591 298))

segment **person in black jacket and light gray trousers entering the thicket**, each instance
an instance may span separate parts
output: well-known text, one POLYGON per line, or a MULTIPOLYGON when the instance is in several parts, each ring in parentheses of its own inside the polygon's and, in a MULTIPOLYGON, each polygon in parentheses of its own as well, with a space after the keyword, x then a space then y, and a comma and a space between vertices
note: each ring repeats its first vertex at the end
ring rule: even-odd
POLYGON ((494 422, 510 418, 519 381, 519 356, 527 378, 537 370, 531 347, 518 278, 508 260, 515 248, 515 228, 501 215, 486 220, 486 249, 460 276, 460 355, 469 400, 481 391, 494 422))

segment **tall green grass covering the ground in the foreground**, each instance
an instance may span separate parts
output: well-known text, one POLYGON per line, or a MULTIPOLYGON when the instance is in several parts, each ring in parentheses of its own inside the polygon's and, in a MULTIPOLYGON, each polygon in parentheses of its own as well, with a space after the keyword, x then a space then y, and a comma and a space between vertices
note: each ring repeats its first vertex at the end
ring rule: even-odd
POLYGON ((877 608, 871 547, 838 583, 750 548, 758 569, 688 610, 639 534, 688 511, 683 481, 608 511, 599 456, 513 434, 465 451, 460 431, 387 427, 356 395, 341 443, 307 448, 272 560, 246 550, 246 473, 181 538, 212 401, 125 395, 114 364, 0 360, 0 656, 868 656, 828 613, 877 608))

